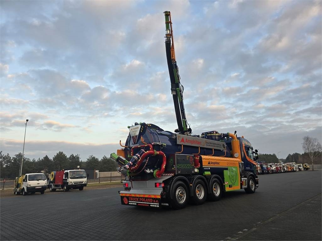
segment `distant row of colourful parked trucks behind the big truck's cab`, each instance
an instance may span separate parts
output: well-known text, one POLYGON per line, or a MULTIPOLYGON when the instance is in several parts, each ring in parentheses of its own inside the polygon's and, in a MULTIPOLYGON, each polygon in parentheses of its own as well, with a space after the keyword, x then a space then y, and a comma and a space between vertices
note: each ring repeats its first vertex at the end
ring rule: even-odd
POLYGON ((297 172, 302 170, 309 170, 310 166, 305 164, 297 164, 295 162, 289 163, 265 163, 258 162, 256 165, 257 174, 272 174, 284 172, 297 172))

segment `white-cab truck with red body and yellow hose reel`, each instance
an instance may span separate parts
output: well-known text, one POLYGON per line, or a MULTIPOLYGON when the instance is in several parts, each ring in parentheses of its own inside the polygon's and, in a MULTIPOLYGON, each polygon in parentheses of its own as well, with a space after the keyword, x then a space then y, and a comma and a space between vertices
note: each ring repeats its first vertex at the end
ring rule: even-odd
POLYGON ((49 175, 48 188, 50 192, 62 189, 67 192, 70 189, 79 189, 82 191, 87 186, 87 177, 85 170, 62 170, 51 172, 49 175))

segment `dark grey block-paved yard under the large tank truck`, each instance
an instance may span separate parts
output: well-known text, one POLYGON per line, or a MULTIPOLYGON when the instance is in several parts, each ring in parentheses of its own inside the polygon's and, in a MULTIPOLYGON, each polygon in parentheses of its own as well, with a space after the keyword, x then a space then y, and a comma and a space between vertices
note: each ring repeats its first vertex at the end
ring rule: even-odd
POLYGON ((118 188, 1 198, 1 240, 321 240, 321 170, 260 176, 183 210, 120 205, 118 188))

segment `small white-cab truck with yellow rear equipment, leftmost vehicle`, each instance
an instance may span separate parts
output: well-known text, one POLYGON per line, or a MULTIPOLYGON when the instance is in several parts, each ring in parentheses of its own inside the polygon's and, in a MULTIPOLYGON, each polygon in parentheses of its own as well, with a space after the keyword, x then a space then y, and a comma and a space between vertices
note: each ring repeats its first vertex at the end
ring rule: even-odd
POLYGON ((21 177, 16 177, 14 180, 15 195, 23 194, 25 196, 27 193, 33 194, 35 192, 44 194, 46 189, 47 180, 43 173, 28 173, 21 177))

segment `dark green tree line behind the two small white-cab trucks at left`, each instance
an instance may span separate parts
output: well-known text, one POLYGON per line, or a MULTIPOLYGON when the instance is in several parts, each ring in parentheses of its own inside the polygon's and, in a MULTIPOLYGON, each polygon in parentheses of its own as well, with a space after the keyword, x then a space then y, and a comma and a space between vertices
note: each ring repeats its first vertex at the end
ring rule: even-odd
MULTIPOLYGON (((20 164, 22 160, 22 153, 19 152, 11 157, 9 154, 4 155, 0 151, 0 177, 1 179, 14 179, 19 175, 20 164)), ((66 156, 62 151, 57 152, 53 158, 49 158, 47 155, 38 160, 24 157, 22 174, 25 173, 44 173, 50 174, 52 171, 58 171, 62 169, 70 168, 95 168, 100 172, 115 172, 117 171, 117 163, 107 157, 103 156, 100 160, 90 155, 86 161, 81 161, 79 154, 71 154, 66 156)))

